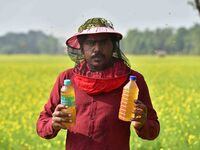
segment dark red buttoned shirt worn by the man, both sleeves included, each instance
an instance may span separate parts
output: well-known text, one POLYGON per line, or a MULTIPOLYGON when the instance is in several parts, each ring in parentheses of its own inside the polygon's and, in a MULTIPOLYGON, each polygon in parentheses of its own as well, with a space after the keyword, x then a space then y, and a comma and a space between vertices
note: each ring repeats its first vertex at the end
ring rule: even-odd
MULTIPOLYGON (((137 77, 139 97, 147 106, 147 121, 136 130, 139 137, 153 140, 160 131, 160 125, 149 96, 148 87, 143 76, 131 70, 130 75, 137 77)), ((60 103, 60 88, 64 79, 71 79, 76 93, 76 125, 67 131, 67 150, 129 150, 130 122, 118 119, 118 112, 123 86, 108 93, 87 94, 74 83, 73 69, 62 72, 51 91, 48 102, 37 121, 39 136, 51 139, 57 135, 52 128, 52 113, 60 103)), ((136 144, 136 143, 135 143, 136 144)))

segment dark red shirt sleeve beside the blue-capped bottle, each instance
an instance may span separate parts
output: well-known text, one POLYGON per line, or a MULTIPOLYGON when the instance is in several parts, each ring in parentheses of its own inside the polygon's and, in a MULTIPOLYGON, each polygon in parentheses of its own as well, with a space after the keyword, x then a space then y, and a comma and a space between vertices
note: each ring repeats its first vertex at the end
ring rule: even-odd
POLYGON ((139 137, 147 140, 155 139, 160 132, 160 124, 158 121, 158 117, 156 111, 154 110, 151 98, 149 95, 149 90, 147 84, 143 77, 140 78, 138 81, 139 86, 139 97, 138 99, 141 100, 147 106, 147 121, 145 122, 144 126, 140 130, 136 130, 136 133, 139 137))

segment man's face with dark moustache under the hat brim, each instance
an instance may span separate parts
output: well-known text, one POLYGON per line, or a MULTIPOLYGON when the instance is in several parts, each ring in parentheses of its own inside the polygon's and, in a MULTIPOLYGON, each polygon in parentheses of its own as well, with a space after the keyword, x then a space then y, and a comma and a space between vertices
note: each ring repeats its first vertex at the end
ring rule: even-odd
POLYGON ((83 54, 92 70, 103 70, 111 62, 113 44, 109 34, 91 34, 83 42, 83 54))

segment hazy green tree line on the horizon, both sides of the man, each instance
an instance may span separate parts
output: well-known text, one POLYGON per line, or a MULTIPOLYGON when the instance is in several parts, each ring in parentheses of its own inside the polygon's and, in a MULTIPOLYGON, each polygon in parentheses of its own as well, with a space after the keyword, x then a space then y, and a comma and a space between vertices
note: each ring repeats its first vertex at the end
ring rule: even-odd
MULTIPOLYGON (((168 54, 200 55, 199 41, 199 24, 178 29, 131 29, 121 41, 121 49, 129 54, 154 54, 164 51, 168 54)), ((62 45, 58 38, 41 31, 8 33, 0 37, 0 54, 58 54, 64 52, 62 45)))

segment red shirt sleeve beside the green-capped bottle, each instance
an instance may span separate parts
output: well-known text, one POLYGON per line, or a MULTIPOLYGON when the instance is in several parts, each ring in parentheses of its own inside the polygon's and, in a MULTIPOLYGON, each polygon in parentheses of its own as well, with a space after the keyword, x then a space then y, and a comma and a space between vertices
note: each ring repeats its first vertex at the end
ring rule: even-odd
POLYGON ((40 112, 39 118, 36 123, 37 134, 45 139, 54 138, 59 131, 55 131, 52 127, 52 114, 56 106, 60 103, 60 88, 62 86, 63 80, 69 78, 68 72, 62 72, 50 93, 50 97, 47 103, 44 105, 43 110, 40 112))

